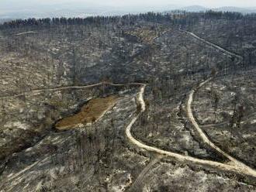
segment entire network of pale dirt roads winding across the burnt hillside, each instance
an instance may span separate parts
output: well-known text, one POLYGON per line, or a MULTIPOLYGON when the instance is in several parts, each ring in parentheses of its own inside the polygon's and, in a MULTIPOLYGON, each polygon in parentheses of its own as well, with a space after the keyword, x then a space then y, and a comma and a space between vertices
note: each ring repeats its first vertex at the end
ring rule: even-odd
MULTIPOLYGON (((189 32, 186 32, 186 31, 183 31, 183 32, 189 33, 189 32)), ((193 34, 193 33, 189 33, 189 34, 192 35, 192 36, 195 36, 195 34, 193 34)), ((239 59, 242 59, 242 57, 237 56, 237 54, 230 53, 229 51, 224 50, 220 46, 216 46, 213 43, 207 42, 205 39, 202 39, 202 38, 200 38, 198 36, 195 36, 195 38, 202 40, 203 42, 209 44, 210 46, 216 47, 216 49, 221 50, 223 53, 227 53, 230 56, 234 56, 234 57, 237 57, 239 59)), ((202 87, 202 85, 206 84, 207 82, 209 82, 211 80, 212 80, 211 78, 207 79, 206 81, 202 82, 199 85, 199 87, 202 87)), ((92 84, 92 85, 87 85, 87 86, 67 86, 67 87, 56 87, 56 88, 49 88, 49 89, 37 89, 37 90, 27 91, 27 92, 22 93, 22 94, 16 94, 16 95, 11 95, 11 96, 2 96, 0 98, 8 98, 8 97, 12 97, 13 98, 13 97, 17 97, 19 95, 24 95, 24 94, 40 94, 43 91, 62 91, 62 90, 67 90, 67 89, 82 89, 82 88, 88 88, 88 87, 96 87, 96 86, 100 86, 102 84, 109 84, 109 85, 112 85, 112 86, 124 86, 124 85, 138 85, 138 86, 140 86, 140 92, 139 92, 138 97, 137 97, 137 101, 140 102, 140 106, 141 106, 140 113, 137 114, 137 115, 134 115, 134 117, 132 118, 132 120, 129 123, 129 125, 126 126, 126 136, 130 140, 130 142, 132 142, 135 146, 138 146, 140 149, 145 149, 147 151, 150 151, 150 152, 153 152, 153 153, 157 153, 157 154, 159 154, 161 156, 168 156, 168 157, 177 159, 178 161, 181 161, 181 162, 185 162, 185 163, 199 163, 199 164, 204 165, 204 166, 211 166, 211 167, 214 167, 216 169, 231 171, 231 172, 239 173, 239 174, 242 174, 242 175, 245 174, 245 175, 252 176, 252 177, 256 178, 256 171, 255 170, 253 170, 251 167, 245 165, 244 163, 241 163, 240 161, 238 161, 234 157, 230 156, 229 154, 223 152, 223 150, 220 149, 218 146, 215 146, 215 144, 208 139, 208 137, 202 131, 202 129, 199 127, 197 122, 195 122, 195 118, 194 118, 194 116, 192 114, 192 101, 193 101, 193 95, 195 94, 195 90, 194 89, 189 94, 189 100, 188 100, 188 105, 187 105, 189 119, 192 122, 192 125, 194 125, 196 131, 199 132, 199 135, 202 138, 202 141, 206 142, 206 144, 208 144, 210 147, 215 149, 217 152, 221 153, 223 156, 226 156, 227 159, 230 160, 229 164, 219 163, 219 162, 215 162, 215 161, 212 161, 212 160, 206 160, 206 159, 198 159, 198 158, 195 158, 195 157, 192 157, 192 156, 185 156, 185 155, 181 155, 181 154, 178 154, 178 153, 172 153, 172 152, 169 152, 169 151, 158 149, 157 147, 154 147, 154 146, 147 146, 143 142, 140 142, 140 140, 134 138, 132 133, 131 133, 131 129, 132 129, 134 123, 137 122, 137 119, 140 117, 140 115, 146 109, 145 102, 144 102, 144 92, 145 92, 146 84, 140 84, 140 83, 112 84, 112 83, 102 82, 102 83, 99 83, 99 84, 92 84)), ((30 170, 35 165, 36 165, 36 163, 34 163, 33 165, 27 167, 25 169, 25 171, 30 170)), ((19 176, 19 174, 23 173, 23 171, 17 173, 15 175, 15 177, 17 175, 19 176)))

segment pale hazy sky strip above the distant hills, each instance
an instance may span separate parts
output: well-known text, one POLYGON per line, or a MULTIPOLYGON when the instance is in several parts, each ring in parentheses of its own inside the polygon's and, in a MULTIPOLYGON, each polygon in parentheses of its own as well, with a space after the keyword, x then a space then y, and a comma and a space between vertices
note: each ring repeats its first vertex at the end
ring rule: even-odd
POLYGON ((256 0, 0 0, 1 5, 15 5, 15 3, 58 4, 83 2, 88 5, 110 6, 138 6, 138 5, 202 5, 206 7, 238 6, 256 7, 256 0))

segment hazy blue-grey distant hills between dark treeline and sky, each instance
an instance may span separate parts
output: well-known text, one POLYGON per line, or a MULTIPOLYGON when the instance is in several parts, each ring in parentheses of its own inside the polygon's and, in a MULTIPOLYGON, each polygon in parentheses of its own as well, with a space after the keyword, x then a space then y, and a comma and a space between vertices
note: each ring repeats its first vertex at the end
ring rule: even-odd
MULTIPOLYGON (((26 18, 46 18, 46 17, 87 17, 93 15, 125 15, 128 13, 140 12, 170 12, 173 10, 185 10, 187 12, 206 12, 209 8, 192 5, 159 5, 159 6, 136 6, 136 7, 111 7, 107 5, 87 5, 85 3, 54 3, 47 4, 43 1, 35 0, 34 2, 9 0, 8 2, 0 1, 0 20, 3 19, 26 19, 26 18), (12 3, 13 2, 13 3, 12 3), (16 2, 16 3, 14 3, 16 2)), ((256 12, 256 8, 238 8, 238 7, 220 7, 212 9, 223 12, 242 12, 244 14, 256 12)), ((0 22, 2 22, 0 21, 0 22)))

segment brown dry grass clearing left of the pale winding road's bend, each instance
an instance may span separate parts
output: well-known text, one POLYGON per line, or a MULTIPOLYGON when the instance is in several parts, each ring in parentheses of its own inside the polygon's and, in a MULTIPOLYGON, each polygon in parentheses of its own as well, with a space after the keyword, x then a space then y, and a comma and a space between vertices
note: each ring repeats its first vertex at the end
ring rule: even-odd
POLYGON ((117 96, 94 98, 88 101, 88 104, 84 105, 78 114, 63 118, 60 122, 57 122, 55 127, 56 129, 63 131, 74 129, 81 124, 93 123, 101 118, 106 111, 109 111, 110 108, 116 105, 117 100, 117 96))

